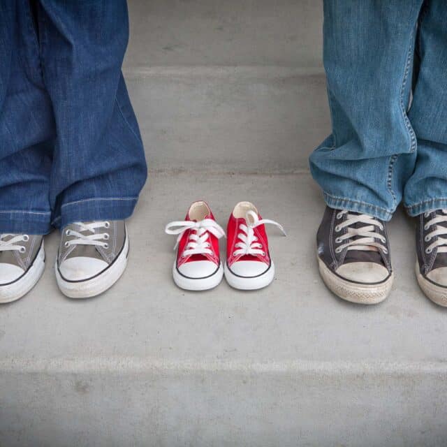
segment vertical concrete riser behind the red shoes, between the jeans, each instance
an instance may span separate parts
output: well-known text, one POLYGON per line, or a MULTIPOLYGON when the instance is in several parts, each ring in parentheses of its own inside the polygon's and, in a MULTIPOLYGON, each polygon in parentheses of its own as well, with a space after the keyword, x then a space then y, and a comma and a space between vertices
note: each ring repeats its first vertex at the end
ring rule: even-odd
POLYGON ((177 66, 125 75, 152 170, 299 172, 330 133, 319 69, 177 66))

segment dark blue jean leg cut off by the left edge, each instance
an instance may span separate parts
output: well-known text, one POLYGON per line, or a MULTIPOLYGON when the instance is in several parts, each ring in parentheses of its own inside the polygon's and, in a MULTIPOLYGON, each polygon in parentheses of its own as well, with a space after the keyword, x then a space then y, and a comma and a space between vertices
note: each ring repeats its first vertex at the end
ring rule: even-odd
POLYGON ((54 120, 27 0, 0 0, 0 233, 50 231, 54 120))

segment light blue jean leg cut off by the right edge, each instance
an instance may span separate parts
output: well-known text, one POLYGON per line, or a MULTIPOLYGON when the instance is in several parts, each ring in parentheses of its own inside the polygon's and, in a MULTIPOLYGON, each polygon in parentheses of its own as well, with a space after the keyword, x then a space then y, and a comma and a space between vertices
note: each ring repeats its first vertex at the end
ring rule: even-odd
POLYGON ((416 168, 404 191, 411 216, 447 208, 447 3, 427 1, 418 36, 420 66, 409 119, 418 138, 416 168))

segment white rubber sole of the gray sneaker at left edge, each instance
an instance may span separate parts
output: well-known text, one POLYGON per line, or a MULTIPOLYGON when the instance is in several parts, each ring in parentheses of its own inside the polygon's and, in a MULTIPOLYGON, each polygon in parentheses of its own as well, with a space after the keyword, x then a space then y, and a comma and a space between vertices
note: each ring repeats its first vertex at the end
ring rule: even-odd
POLYGON ((36 259, 34 259, 27 272, 24 272, 15 281, 0 286, 0 303, 13 302, 26 295, 41 279, 43 270, 45 270, 45 249, 42 241, 36 259))

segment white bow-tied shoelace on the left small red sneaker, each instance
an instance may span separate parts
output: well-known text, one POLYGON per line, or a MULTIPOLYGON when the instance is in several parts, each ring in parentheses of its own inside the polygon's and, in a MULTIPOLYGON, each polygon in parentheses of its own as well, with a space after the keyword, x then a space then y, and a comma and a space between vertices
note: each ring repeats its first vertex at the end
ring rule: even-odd
POLYGON ((184 248, 182 256, 190 256, 193 254, 212 254, 211 243, 208 241, 209 233, 220 239, 225 236, 223 228, 212 219, 204 219, 203 221, 174 221, 168 223, 165 232, 168 235, 179 235, 174 249, 177 249, 180 240, 187 230, 192 230, 189 234, 188 242, 184 248))

